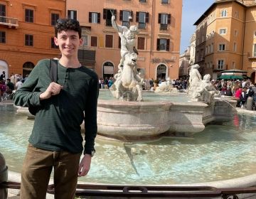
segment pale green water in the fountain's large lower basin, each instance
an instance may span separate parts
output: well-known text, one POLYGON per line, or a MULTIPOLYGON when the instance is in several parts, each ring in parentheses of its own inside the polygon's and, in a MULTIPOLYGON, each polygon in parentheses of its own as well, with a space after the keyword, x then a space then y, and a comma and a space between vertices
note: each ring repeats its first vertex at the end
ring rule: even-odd
MULTIPOLYGON (((33 120, 0 105, 0 152, 10 171, 21 171, 33 120)), ((124 143, 97 139, 97 153, 79 181, 111 184, 171 184, 221 181, 256 173, 256 118, 208 125, 193 138, 124 143)))

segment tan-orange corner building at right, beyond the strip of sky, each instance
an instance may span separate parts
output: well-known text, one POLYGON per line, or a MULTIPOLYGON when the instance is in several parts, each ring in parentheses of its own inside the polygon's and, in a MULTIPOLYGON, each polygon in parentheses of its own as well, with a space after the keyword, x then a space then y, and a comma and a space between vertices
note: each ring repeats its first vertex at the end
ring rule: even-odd
POLYGON ((255 82, 256 1, 218 0, 196 21, 195 63, 213 79, 221 71, 247 70, 255 82))

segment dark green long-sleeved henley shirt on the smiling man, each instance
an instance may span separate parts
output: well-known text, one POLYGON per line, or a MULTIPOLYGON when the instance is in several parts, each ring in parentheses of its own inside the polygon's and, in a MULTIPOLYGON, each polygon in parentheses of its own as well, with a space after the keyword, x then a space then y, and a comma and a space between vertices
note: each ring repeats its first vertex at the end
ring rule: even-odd
MULTIPOLYGON (((40 100, 39 95, 50 85, 50 60, 40 60, 22 87, 16 90, 18 106, 38 106, 29 142, 48 151, 82 152, 80 125, 85 121, 85 151, 94 150, 97 134, 98 77, 92 70, 65 68, 58 63, 59 95, 40 100)), ((85 153, 85 152, 84 152, 85 153)))

